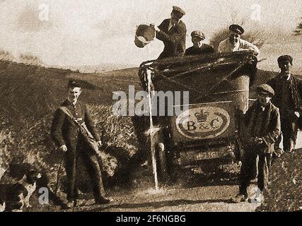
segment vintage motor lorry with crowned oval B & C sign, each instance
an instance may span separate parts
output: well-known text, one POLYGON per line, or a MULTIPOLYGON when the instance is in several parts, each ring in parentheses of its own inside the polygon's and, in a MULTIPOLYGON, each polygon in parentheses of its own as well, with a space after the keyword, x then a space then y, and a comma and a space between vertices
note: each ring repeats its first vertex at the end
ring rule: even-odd
POLYGON ((139 141, 151 149, 160 181, 167 181, 175 167, 219 166, 240 159, 240 121, 248 109, 256 71, 257 58, 249 51, 141 64, 143 90, 150 94, 155 90, 187 91, 190 96, 188 105, 173 105, 186 107, 181 114, 139 119, 141 131, 150 131, 149 138, 139 141))

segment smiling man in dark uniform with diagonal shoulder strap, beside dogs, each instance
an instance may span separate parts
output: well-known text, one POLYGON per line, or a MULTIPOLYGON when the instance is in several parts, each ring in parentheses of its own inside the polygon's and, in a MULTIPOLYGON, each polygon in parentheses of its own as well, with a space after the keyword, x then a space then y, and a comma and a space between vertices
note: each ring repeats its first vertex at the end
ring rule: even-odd
POLYGON ((54 114, 52 121, 51 134, 54 143, 59 150, 65 153, 65 169, 68 180, 67 200, 69 206, 78 197, 78 189, 76 185, 76 165, 79 157, 83 160, 91 181, 93 183, 93 195, 95 203, 109 203, 110 199, 105 198, 103 188, 101 169, 96 156, 95 150, 88 145, 84 136, 79 133, 79 127, 76 123, 86 128, 91 133, 98 145, 101 145, 100 136, 98 136, 91 115, 86 105, 78 101, 81 95, 81 87, 76 81, 69 81, 69 95, 59 109, 54 114), (67 115, 66 112, 69 114, 67 115), (71 117, 73 119, 71 119, 71 117))

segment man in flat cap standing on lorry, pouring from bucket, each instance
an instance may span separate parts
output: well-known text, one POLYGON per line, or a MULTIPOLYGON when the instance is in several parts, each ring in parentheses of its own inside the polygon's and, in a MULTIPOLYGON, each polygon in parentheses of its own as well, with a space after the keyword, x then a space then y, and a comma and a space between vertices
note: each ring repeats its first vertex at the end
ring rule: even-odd
POLYGON ((185 23, 180 20, 184 15, 185 11, 182 8, 173 6, 171 17, 163 20, 158 27, 155 26, 156 38, 163 41, 165 45, 158 59, 180 57, 185 53, 187 28, 185 23))

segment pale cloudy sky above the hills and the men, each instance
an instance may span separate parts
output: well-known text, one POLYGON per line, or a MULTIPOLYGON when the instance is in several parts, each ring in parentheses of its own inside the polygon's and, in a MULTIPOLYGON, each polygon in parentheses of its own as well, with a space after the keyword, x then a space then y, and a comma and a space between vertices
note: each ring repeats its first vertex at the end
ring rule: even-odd
POLYGON ((17 59, 34 54, 52 66, 139 66, 156 59, 163 44, 154 40, 136 47, 137 25, 159 25, 172 6, 186 12, 187 47, 192 30, 202 30, 208 41, 221 28, 245 20, 272 34, 290 33, 302 17, 300 0, 0 0, 0 49, 17 59))

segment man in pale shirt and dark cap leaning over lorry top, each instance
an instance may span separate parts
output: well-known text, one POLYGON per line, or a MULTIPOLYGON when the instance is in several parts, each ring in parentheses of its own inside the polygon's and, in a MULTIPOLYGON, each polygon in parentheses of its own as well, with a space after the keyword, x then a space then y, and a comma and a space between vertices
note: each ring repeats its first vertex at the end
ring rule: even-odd
POLYGON ((244 29, 240 25, 230 25, 228 30, 230 31, 230 36, 228 39, 219 43, 218 52, 251 50, 255 53, 255 55, 260 54, 260 50, 255 46, 255 44, 240 38, 240 35, 243 35, 244 33, 244 29))

